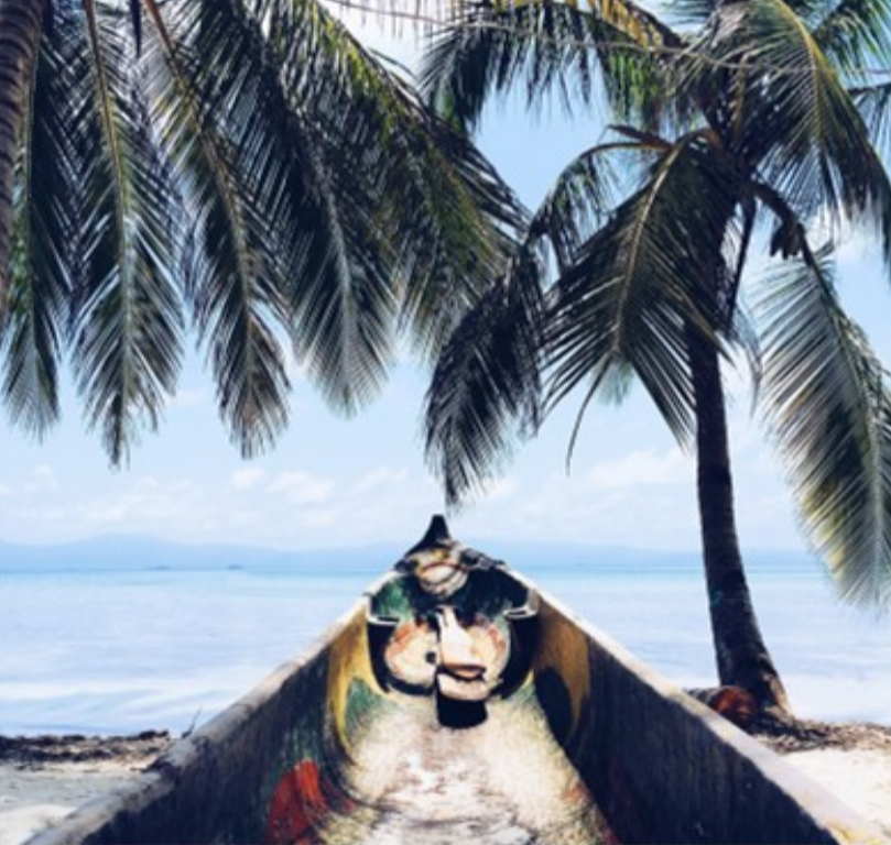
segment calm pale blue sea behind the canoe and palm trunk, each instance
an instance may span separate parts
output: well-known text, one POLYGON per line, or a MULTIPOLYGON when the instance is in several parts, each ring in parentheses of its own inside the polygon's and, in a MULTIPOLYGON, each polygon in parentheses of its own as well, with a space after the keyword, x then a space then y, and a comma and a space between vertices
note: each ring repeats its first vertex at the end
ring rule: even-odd
MULTIPOLYGON (((695 564, 518 569, 669 679, 714 683, 695 564)), ((891 619, 839 605, 814 564, 751 577, 796 712, 891 724, 891 619)), ((0 733, 184 732, 311 646, 374 578, 373 567, 0 572, 0 733)))

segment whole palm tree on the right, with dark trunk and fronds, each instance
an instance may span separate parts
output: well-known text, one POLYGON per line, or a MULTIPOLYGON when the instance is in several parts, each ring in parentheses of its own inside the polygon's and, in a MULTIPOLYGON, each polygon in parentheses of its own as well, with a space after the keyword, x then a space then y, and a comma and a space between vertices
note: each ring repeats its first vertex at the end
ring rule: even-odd
POLYGON ((685 29, 623 0, 487 3, 428 53, 428 96, 460 125, 517 81, 530 105, 555 89, 569 105, 602 95, 616 124, 565 169, 510 272, 445 348, 427 452, 458 503, 572 392, 584 391, 574 440, 588 403, 621 398, 635 376, 697 458, 720 682, 782 717, 737 537, 721 364, 739 350, 753 363, 802 525, 843 596, 891 603, 891 394, 832 262, 854 227, 891 262, 891 186, 865 120, 869 107, 887 127, 870 63, 891 54, 891 9, 671 9, 685 29), (774 260, 756 278, 743 271, 762 245, 774 260))

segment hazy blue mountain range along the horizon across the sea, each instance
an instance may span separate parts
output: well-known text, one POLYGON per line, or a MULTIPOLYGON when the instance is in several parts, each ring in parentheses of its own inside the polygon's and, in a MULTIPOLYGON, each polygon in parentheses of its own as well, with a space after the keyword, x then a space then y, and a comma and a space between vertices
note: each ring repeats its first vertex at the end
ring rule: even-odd
MULTIPOLYGON (((191 545, 139 536, 109 535, 57 545, 13 544, 0 540, 0 572, 87 570, 287 570, 324 572, 327 569, 381 573, 411 544, 378 544, 355 548, 283 550, 226 544, 191 545)), ((561 542, 479 544, 482 551, 521 571, 565 567, 626 569, 688 569, 699 566, 696 551, 654 551, 628 547, 561 542)), ((813 566, 807 555, 790 550, 749 550, 749 566, 787 568, 813 566)))

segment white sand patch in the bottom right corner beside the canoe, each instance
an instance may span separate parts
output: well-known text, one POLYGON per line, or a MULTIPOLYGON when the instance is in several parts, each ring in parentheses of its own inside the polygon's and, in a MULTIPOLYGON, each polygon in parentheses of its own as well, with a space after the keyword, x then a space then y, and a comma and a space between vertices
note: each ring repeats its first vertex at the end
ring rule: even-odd
POLYGON ((824 748, 783 757, 891 838, 891 754, 824 748))

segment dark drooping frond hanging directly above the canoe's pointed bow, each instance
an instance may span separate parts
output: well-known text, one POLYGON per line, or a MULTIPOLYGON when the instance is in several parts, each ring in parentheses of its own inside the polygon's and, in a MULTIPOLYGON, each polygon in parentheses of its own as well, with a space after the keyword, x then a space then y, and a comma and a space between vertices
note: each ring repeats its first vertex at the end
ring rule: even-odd
POLYGON ((425 397, 427 461, 449 505, 485 489, 539 420, 544 267, 523 244, 455 329, 425 397))

